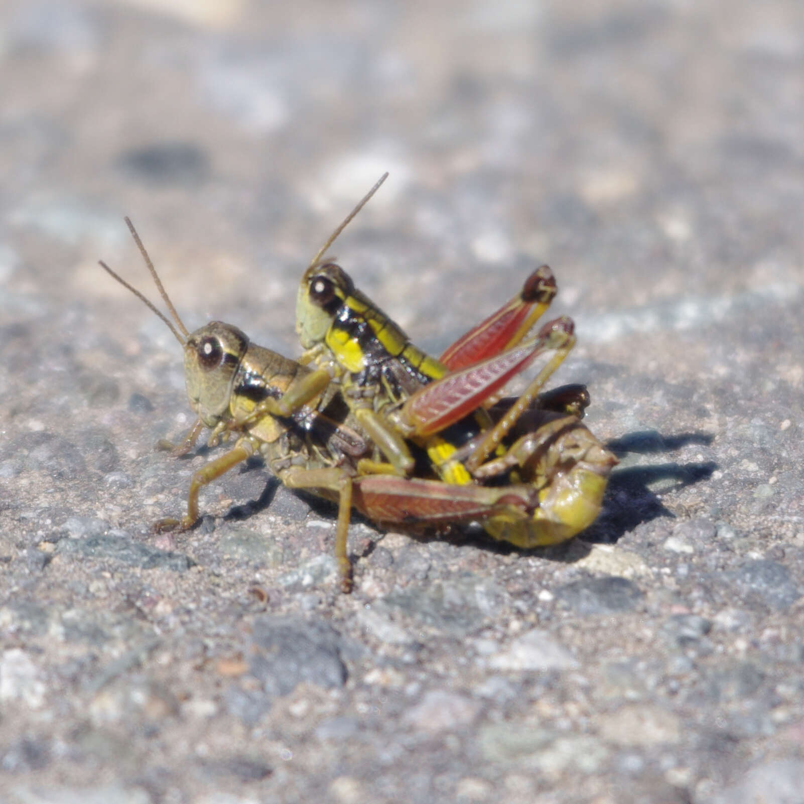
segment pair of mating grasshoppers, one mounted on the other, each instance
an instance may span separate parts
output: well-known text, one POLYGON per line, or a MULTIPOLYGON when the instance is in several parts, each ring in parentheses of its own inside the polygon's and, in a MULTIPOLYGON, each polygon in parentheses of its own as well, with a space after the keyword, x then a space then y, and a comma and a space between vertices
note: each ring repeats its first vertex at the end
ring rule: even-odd
POLYGON ((318 363, 316 369, 251 344, 222 322, 188 332, 126 219, 173 322, 100 265, 183 345, 187 396, 198 419, 173 454, 187 453, 205 427, 212 430, 209 445, 237 436, 232 449, 193 475, 187 514, 160 520, 158 529, 192 527, 201 487, 257 453, 286 486, 338 502, 335 554, 345 591, 351 588, 351 507, 385 525, 478 521, 494 538, 520 547, 568 539, 597 516, 616 459, 580 424, 588 403, 585 389, 537 397, 574 343, 572 322, 557 319, 534 343, 517 346, 555 295, 549 269, 539 269, 523 293, 459 339, 441 361, 429 358, 355 291, 342 269, 320 260, 379 183, 302 278, 297 330, 308 348, 303 360, 318 363), (324 269, 337 269, 338 278, 345 277, 343 287, 323 284, 324 269), (332 293, 321 303, 336 287, 347 293, 332 293), (336 320, 371 326, 363 326, 366 337, 350 346, 343 330, 338 335, 336 320), (546 351, 555 354, 519 400, 492 404, 507 379, 546 351), (371 360, 353 371, 355 355, 363 363, 367 355, 371 360), (478 363, 478 356, 485 359, 478 363))

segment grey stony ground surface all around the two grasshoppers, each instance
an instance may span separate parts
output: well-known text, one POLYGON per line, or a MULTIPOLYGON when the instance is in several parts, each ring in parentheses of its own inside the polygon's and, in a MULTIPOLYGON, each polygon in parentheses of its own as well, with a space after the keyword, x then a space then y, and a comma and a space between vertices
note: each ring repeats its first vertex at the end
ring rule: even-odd
POLYGON ((6 0, 0 802, 804 802, 804 5, 6 0), (571 544, 357 521, 217 454, 191 329, 297 355, 333 251, 438 352, 540 262, 621 459, 571 544))

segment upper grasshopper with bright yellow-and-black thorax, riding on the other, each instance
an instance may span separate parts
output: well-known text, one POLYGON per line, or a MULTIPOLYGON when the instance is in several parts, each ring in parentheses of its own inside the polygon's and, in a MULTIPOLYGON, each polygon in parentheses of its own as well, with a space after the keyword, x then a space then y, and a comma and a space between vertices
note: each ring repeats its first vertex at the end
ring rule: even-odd
POLYGON ((355 289, 343 269, 322 260, 384 178, 330 236, 301 279, 297 332, 306 349, 301 360, 318 369, 261 409, 288 415, 338 379, 355 418, 386 459, 361 459, 360 470, 400 477, 421 473, 414 445, 425 453, 424 470, 445 482, 524 482, 539 490, 539 508, 529 519, 504 527, 503 519, 483 520, 495 538, 520 547, 570 538, 597 516, 617 461, 580 424, 589 403, 583 386, 539 393, 575 343, 572 320, 548 322, 535 339, 521 343, 556 294, 552 272, 547 266, 537 269, 517 297, 459 338, 440 360, 433 359, 355 289), (522 396, 494 404, 508 379, 536 356, 550 353, 522 396))

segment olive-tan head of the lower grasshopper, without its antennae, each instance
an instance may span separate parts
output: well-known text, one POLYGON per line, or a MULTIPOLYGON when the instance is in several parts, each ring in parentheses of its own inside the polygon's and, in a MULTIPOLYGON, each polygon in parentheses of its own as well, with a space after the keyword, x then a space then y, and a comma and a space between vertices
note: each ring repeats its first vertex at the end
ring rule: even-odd
POLYGON ((231 324, 211 321, 184 343, 187 399, 207 427, 226 416, 232 384, 248 349, 248 337, 231 324))

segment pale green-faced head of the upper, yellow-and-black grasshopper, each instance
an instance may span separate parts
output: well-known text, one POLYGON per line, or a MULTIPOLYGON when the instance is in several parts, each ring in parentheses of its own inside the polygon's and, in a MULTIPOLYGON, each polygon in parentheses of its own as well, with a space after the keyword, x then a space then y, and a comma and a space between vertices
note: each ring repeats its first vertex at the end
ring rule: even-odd
POLYGON ((338 310, 355 293, 349 275, 334 262, 310 265, 296 297, 296 332, 301 347, 322 343, 338 310))

